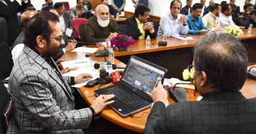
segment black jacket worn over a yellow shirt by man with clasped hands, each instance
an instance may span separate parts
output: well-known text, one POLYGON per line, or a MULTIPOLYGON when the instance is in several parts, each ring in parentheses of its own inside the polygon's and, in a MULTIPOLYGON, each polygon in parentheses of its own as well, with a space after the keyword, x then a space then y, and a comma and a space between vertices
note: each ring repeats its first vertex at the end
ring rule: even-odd
MULTIPOLYGON (((132 36, 134 39, 139 39, 140 35, 142 35, 142 33, 140 33, 140 29, 138 28, 138 24, 136 22, 135 16, 131 16, 129 18, 126 19, 125 21, 126 24, 126 30, 127 30, 127 35, 132 36)), ((154 27, 154 33, 150 33, 148 30, 145 31, 145 39, 147 37, 147 35, 150 35, 151 39, 156 38, 156 31, 157 31, 158 27, 154 27)))

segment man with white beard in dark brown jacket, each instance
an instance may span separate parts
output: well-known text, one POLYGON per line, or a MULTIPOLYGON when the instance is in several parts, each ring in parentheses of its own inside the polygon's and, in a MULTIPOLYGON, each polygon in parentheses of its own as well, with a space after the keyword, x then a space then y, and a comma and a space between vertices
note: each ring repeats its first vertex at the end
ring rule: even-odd
POLYGON ((117 35, 117 23, 110 19, 109 8, 106 5, 98 5, 95 16, 89 18, 85 24, 86 42, 105 42, 117 35))

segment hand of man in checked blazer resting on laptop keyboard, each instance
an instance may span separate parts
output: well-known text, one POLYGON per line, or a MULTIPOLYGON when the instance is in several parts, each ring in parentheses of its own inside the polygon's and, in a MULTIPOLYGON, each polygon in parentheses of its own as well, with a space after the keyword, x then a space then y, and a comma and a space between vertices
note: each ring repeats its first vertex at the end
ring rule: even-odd
POLYGON ((110 99, 114 98, 115 95, 99 95, 95 101, 91 104, 91 108, 95 110, 95 113, 100 113, 105 107, 114 103, 114 100, 109 101, 110 99))

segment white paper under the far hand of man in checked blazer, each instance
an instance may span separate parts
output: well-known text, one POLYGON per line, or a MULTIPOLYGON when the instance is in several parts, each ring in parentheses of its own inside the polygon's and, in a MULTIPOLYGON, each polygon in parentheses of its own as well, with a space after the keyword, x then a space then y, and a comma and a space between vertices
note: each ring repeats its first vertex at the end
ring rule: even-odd
MULTIPOLYGON (((93 78, 91 80, 95 80, 96 78, 100 77, 100 73, 98 71, 96 71, 93 66, 80 67, 76 71, 70 71, 69 73, 63 74, 63 76, 77 76, 77 75, 80 75, 82 73, 89 73, 90 75, 92 75, 93 78)), ((88 81, 90 81, 90 80, 88 80, 88 81)), ((80 88, 82 86, 85 86, 87 84, 87 82, 83 82, 83 83, 80 83, 80 84, 75 84, 72 87, 80 88)))

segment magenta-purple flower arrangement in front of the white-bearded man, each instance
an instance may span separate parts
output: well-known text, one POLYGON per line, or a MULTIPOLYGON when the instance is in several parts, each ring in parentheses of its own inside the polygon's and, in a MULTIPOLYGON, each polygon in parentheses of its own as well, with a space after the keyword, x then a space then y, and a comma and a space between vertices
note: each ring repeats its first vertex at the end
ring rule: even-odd
POLYGON ((127 35, 117 35, 111 39, 111 45, 117 48, 128 48, 129 46, 135 44, 133 37, 128 37, 127 35))

